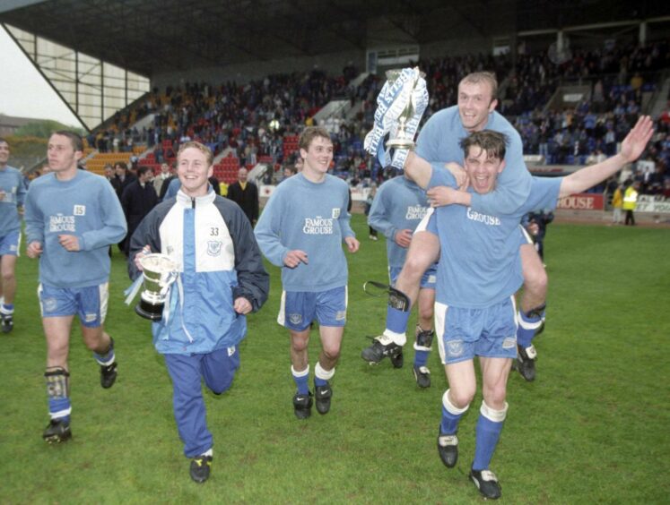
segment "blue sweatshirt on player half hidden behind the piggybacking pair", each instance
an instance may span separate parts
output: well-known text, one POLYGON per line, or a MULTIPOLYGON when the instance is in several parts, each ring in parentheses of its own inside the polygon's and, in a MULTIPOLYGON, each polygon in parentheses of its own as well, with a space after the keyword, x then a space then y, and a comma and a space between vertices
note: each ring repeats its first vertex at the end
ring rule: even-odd
POLYGON ((387 237, 389 267, 402 268, 407 248, 396 244, 396 232, 414 231, 428 210, 426 193, 405 175, 398 175, 379 186, 372 202, 368 224, 387 237))

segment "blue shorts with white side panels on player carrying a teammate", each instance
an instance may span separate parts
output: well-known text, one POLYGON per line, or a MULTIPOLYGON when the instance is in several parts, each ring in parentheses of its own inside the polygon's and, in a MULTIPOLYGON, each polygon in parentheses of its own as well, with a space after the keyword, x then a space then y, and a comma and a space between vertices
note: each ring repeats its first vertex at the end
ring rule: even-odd
POLYGON ((435 331, 443 364, 474 356, 517 357, 517 310, 513 296, 483 309, 435 303, 435 331))

